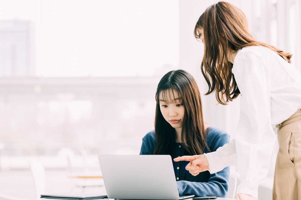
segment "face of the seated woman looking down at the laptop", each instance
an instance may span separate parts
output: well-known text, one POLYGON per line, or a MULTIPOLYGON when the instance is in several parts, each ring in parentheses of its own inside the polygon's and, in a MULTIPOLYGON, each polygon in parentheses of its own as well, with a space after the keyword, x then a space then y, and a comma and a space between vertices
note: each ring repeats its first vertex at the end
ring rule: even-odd
MULTIPOLYGON (((172 94, 172 91, 165 91, 165 94, 172 94)), ((160 111, 164 117, 164 119, 175 129, 178 131, 182 130, 183 119, 184 119, 184 105, 178 97, 178 93, 174 91, 173 95, 164 95, 163 92, 160 92, 159 95, 159 103, 160 103, 160 111), (171 99, 171 97, 174 97, 171 99)))

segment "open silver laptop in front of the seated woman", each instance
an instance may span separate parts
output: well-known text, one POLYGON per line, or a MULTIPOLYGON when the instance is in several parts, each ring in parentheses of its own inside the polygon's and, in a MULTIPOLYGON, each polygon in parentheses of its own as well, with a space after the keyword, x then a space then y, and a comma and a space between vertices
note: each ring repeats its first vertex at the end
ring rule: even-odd
POLYGON ((169 199, 179 196, 170 155, 99 155, 109 199, 169 199))

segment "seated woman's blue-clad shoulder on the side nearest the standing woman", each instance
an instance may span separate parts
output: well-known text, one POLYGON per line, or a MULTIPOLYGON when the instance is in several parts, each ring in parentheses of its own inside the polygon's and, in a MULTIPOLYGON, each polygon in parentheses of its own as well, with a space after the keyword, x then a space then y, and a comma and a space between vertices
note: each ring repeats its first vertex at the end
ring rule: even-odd
POLYGON ((210 126, 206 136, 206 143, 211 151, 230 142, 230 136, 225 131, 218 127, 210 126))

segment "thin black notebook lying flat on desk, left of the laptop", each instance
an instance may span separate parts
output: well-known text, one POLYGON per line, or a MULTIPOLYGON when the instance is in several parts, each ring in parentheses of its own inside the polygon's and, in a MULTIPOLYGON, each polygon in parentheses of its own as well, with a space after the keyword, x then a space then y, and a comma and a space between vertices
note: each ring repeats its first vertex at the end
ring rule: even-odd
POLYGON ((107 199, 108 197, 107 195, 99 195, 99 194, 60 193, 60 194, 41 194, 41 198, 88 200, 88 199, 107 199))

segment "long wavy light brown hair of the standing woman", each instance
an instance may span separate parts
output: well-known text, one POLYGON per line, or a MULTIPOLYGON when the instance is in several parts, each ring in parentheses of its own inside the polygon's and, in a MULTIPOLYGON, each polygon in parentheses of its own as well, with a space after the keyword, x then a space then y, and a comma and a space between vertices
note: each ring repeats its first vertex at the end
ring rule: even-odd
POLYGON ((198 19, 194 37, 200 38, 197 28, 204 31, 204 57, 201 70, 209 86, 207 94, 216 91, 216 100, 225 105, 240 91, 232 73, 233 64, 225 61, 231 53, 246 46, 264 46, 290 63, 292 55, 263 42, 256 41, 248 31, 245 14, 234 5, 220 1, 209 6, 198 19))

